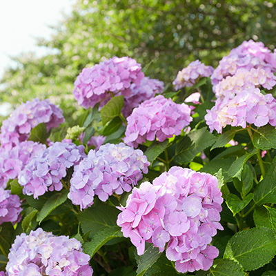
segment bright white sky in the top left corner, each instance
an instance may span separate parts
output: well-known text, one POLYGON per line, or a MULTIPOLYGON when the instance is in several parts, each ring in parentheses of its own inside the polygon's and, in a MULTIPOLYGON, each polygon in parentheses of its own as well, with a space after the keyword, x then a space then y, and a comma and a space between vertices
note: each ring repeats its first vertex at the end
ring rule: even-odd
POLYGON ((46 50, 35 46, 35 37, 48 38, 63 14, 69 14, 76 0, 0 0, 0 78, 8 66, 9 56, 46 50))

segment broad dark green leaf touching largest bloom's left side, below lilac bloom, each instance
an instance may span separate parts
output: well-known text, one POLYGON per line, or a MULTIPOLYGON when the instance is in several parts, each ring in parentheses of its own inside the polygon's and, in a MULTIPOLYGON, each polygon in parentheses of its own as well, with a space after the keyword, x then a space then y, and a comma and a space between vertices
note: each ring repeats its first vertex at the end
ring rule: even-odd
POLYGON ((78 215, 84 234, 95 235, 103 228, 117 226, 116 221, 120 211, 112 206, 100 205, 89 208, 78 215))

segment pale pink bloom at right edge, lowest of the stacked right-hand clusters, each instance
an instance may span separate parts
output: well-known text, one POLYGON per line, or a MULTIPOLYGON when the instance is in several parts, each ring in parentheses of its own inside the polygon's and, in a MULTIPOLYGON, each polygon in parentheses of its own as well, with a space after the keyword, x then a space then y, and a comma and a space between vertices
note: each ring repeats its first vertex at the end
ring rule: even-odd
POLYGON ((269 123, 276 126, 276 100, 271 94, 263 95, 259 88, 248 88, 233 98, 217 99, 215 106, 207 110, 205 119, 210 130, 219 133, 227 125, 246 128, 246 123, 257 127, 269 123))

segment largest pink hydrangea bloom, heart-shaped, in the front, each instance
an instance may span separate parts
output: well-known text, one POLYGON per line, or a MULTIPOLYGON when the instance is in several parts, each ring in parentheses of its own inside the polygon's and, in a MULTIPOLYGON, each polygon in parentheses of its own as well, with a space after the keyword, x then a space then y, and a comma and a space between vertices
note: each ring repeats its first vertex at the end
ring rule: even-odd
POLYGON ((134 188, 126 207, 117 219, 124 237, 137 247, 138 255, 145 242, 152 243, 175 261, 180 273, 208 270, 219 255, 209 246, 219 224, 221 191, 216 177, 188 168, 172 167, 153 180, 134 188))

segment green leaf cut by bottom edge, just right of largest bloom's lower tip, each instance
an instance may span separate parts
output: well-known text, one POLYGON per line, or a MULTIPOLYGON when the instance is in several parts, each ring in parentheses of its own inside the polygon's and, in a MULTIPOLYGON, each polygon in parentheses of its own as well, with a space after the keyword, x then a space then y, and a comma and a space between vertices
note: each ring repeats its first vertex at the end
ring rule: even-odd
POLYGON ((200 270, 196 276, 244 276, 246 273, 237 262, 232 259, 215 259, 213 266, 208 270, 200 270))

